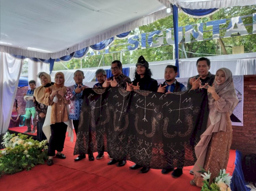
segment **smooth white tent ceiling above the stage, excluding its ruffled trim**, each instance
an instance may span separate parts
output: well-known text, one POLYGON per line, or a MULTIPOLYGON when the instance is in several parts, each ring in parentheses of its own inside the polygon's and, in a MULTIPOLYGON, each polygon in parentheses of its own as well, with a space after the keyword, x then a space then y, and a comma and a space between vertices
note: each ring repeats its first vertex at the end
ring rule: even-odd
POLYGON ((1 0, 0 45, 54 53, 165 8, 158 0, 1 0))

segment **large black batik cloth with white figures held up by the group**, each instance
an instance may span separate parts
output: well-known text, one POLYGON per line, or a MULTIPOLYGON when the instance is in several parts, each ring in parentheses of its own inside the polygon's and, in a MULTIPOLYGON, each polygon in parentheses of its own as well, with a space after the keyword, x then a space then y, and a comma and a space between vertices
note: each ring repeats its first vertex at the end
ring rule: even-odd
POLYGON ((191 166, 208 119, 207 91, 171 94, 123 88, 83 92, 74 154, 105 151, 145 167, 191 166))

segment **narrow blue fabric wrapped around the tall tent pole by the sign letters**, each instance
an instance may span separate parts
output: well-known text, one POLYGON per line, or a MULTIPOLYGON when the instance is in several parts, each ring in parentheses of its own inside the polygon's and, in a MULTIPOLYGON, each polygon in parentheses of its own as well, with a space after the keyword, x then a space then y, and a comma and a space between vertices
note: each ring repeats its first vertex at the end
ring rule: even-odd
POLYGON ((173 32, 174 32, 174 43, 175 43, 175 66, 177 66, 178 75, 180 77, 180 68, 179 68, 179 37, 178 37, 178 7, 172 5, 173 12, 173 32))

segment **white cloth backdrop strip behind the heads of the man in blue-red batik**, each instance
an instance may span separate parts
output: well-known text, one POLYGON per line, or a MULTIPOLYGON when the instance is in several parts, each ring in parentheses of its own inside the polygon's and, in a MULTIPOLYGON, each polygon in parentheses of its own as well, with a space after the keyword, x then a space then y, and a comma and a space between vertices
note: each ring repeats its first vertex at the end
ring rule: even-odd
MULTIPOLYGON (((78 69, 84 72, 84 80, 83 84, 85 82, 91 82, 95 77, 96 70, 85 70, 85 69, 78 69)), ((61 70, 61 71, 52 71, 51 73, 51 80, 54 82, 54 76, 57 72, 62 72, 65 76, 65 86, 72 86, 75 84, 74 82, 74 72, 76 70, 61 70)), ((97 82, 95 82, 96 84, 97 82)))

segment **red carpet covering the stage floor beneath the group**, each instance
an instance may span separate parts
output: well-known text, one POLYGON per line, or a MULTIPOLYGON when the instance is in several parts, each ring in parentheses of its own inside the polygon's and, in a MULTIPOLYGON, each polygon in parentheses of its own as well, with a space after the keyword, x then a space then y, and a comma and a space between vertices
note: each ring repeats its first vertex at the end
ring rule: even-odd
MULTIPOLYGON (((63 154, 66 159, 54 158, 54 165, 37 165, 30 171, 22 171, 13 175, 3 175, 0 178, 1 190, 177 190, 200 191, 191 186, 189 174, 191 167, 184 167, 183 175, 173 178, 170 174, 163 175, 161 170, 151 169, 146 174, 139 170, 130 170, 133 163, 127 161, 124 167, 106 165, 108 154, 100 160, 85 159, 74 162, 73 148, 75 142, 66 138, 63 154)), ((94 153, 96 158, 97 153, 94 153)), ((232 174, 236 152, 230 150, 227 171, 232 174)))

